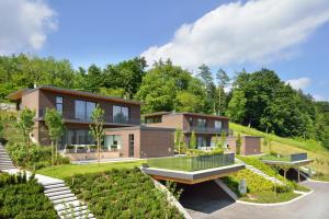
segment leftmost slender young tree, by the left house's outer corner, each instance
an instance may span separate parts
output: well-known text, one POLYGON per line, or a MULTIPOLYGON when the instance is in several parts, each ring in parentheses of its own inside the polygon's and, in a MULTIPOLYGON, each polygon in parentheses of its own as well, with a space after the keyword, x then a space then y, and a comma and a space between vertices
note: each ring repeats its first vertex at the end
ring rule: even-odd
POLYGON ((18 117, 18 127, 21 130, 23 138, 25 140, 26 161, 30 160, 30 154, 29 154, 30 134, 33 131, 34 116, 35 116, 35 111, 25 107, 24 110, 22 110, 20 116, 18 117))

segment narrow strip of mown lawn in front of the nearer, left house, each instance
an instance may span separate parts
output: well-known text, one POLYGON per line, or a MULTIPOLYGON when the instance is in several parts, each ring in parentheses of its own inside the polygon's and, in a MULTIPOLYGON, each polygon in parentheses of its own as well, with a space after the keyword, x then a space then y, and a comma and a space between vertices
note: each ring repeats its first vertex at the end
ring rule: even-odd
POLYGON ((84 173, 98 173, 104 172, 111 169, 133 169, 135 166, 140 166, 141 163, 145 163, 144 160, 138 161, 127 161, 127 162, 112 162, 112 163, 101 163, 100 166, 98 163, 91 164, 66 164, 66 165, 56 165, 50 168, 45 168, 38 170, 36 173, 48 175, 57 178, 65 178, 72 176, 75 174, 84 174, 84 173))

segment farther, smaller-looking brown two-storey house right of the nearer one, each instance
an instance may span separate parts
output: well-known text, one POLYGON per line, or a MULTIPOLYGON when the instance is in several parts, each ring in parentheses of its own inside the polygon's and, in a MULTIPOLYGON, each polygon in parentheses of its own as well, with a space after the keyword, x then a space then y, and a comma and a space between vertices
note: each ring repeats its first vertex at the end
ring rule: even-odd
POLYGON ((217 115, 158 112, 144 115, 144 123, 148 127, 180 128, 184 134, 186 146, 194 131, 198 148, 212 146, 214 137, 219 138, 223 131, 229 134, 228 118, 217 115))

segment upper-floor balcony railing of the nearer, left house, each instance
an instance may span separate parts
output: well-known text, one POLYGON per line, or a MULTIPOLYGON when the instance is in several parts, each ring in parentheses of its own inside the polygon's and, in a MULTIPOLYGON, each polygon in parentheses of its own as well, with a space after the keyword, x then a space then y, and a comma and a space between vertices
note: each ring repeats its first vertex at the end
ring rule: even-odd
MULTIPOLYGON (((38 111, 38 118, 44 118, 46 114, 46 110, 38 111)), ((91 123, 91 118, 86 114, 76 114, 75 112, 64 111, 63 112, 64 119, 81 122, 81 123, 91 123)), ((134 124, 140 125, 139 118, 113 118, 106 117, 105 115, 105 123, 117 123, 117 124, 134 124)))

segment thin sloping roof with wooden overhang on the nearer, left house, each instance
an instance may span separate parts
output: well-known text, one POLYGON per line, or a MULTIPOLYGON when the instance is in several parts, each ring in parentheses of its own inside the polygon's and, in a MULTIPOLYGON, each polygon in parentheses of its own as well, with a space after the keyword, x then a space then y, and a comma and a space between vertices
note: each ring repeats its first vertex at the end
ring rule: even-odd
POLYGON ((141 105, 141 103, 139 101, 126 100, 126 99, 121 99, 121 97, 116 97, 116 96, 100 95, 97 93, 78 91, 78 90, 72 90, 72 89, 65 89, 65 88, 57 88, 57 87, 53 87, 53 85, 41 85, 35 89, 21 89, 19 91, 15 91, 15 92, 7 95, 5 97, 9 100, 12 100, 12 101, 16 101, 16 100, 21 99, 23 95, 35 92, 37 90, 52 91, 52 92, 56 92, 56 93, 64 93, 64 94, 87 96, 87 97, 93 97, 93 99, 105 100, 105 101, 114 101, 114 102, 121 102, 121 103, 141 105))

